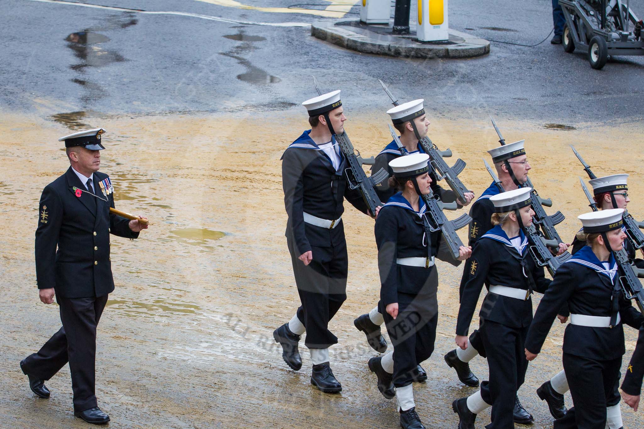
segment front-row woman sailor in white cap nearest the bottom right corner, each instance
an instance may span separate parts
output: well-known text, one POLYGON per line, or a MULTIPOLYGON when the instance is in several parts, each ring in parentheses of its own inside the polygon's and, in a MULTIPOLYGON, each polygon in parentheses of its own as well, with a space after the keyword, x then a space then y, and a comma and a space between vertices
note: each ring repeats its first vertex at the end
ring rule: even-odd
POLYGON ((622 215, 623 209, 611 208, 578 216, 587 245, 557 269, 527 334, 526 358, 533 360, 558 309, 567 303, 571 323, 565 330, 563 360, 574 406, 555 421, 555 429, 603 428, 607 423, 625 352, 622 320, 639 313, 623 297, 613 254, 626 238, 622 215))

